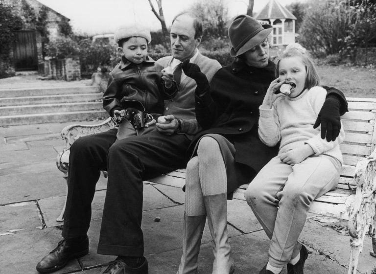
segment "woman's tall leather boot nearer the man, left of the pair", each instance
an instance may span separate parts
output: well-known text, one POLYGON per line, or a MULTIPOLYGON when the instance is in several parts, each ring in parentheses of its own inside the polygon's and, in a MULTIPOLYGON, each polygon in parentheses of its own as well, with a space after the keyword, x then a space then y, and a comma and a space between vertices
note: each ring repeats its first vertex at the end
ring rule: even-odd
POLYGON ((197 274, 198 253, 205 221, 206 215, 188 216, 184 213, 183 255, 177 274, 197 274))

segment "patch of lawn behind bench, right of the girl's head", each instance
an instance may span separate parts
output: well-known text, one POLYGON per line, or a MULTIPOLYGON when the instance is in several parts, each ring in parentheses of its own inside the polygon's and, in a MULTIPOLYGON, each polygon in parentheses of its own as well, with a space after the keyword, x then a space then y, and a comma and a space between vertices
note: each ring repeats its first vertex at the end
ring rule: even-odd
POLYGON ((376 98, 376 68, 320 65, 321 85, 335 87, 346 97, 376 98))

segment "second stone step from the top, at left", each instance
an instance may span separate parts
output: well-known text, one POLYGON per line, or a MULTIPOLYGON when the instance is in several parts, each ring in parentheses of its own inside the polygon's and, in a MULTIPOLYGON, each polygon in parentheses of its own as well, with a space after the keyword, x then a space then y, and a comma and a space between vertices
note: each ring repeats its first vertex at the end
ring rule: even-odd
POLYGON ((84 94, 60 94, 43 96, 24 96, 0 98, 0 106, 20 106, 35 104, 56 104, 56 103, 74 103, 101 101, 102 93, 84 93, 84 94))

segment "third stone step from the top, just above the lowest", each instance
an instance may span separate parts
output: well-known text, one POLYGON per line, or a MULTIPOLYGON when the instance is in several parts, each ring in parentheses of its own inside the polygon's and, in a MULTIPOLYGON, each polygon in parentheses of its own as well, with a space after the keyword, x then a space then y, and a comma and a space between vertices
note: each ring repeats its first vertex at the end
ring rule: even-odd
POLYGON ((0 107, 0 116, 103 110, 102 102, 76 102, 0 107))

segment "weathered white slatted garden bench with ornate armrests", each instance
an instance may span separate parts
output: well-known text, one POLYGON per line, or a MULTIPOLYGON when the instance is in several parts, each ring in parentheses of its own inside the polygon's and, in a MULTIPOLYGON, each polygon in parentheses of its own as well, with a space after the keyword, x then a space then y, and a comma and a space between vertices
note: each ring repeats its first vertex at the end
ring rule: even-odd
MULTIPOLYGON (((348 274, 355 274, 359 253, 367 232, 372 236, 376 253, 375 237, 375 196, 376 196, 376 99, 348 98, 349 112, 342 116, 346 132, 341 150, 344 158, 341 178, 336 189, 316 199, 310 212, 349 220, 351 255, 348 274), (371 155, 371 157, 369 157, 371 155), (367 159, 367 157, 369 159, 367 159)), ((65 127, 61 135, 67 144, 57 156, 57 167, 68 177, 69 149, 79 137, 107 131, 114 128, 111 119, 97 125, 71 125, 65 127)), ((106 175, 106 173, 105 173, 106 175)), ((176 170, 152 180, 175 187, 185 184, 185 170, 176 170)), ((244 191, 248 184, 241 185, 234 193, 234 199, 245 200, 244 191)), ((65 206, 57 221, 63 220, 65 206)))

